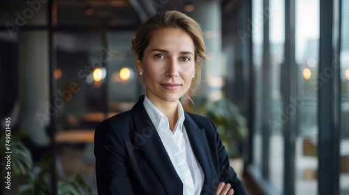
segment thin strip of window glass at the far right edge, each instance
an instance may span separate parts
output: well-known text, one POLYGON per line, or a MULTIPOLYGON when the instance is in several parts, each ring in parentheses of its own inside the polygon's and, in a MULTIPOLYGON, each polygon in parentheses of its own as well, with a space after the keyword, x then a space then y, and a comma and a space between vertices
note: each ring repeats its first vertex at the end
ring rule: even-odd
POLYGON ((341 194, 349 194, 349 1, 341 1, 341 194))

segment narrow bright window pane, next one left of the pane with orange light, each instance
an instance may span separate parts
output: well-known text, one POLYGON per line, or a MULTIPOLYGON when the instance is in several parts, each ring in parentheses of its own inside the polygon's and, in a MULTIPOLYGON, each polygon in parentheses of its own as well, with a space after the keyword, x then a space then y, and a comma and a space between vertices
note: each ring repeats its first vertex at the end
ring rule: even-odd
POLYGON ((269 42, 270 42, 270 180, 280 192, 283 190, 283 123, 281 110, 281 63, 285 44, 285 3, 281 0, 269 1, 269 42))

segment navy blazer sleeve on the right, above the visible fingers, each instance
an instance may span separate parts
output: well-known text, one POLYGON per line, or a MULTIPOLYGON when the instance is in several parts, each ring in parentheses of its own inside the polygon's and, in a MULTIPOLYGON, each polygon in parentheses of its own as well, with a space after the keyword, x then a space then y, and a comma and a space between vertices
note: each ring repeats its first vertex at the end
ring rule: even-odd
POLYGON ((216 146, 219 160, 219 170, 220 170, 220 180, 227 183, 229 182, 232 185, 232 189, 234 189, 234 195, 246 195, 246 189, 244 184, 239 178, 237 178, 237 173, 235 173, 234 169, 230 166, 228 153, 225 150, 221 139, 219 138, 217 127, 214 122, 211 120, 212 125, 215 128, 216 132, 216 146))

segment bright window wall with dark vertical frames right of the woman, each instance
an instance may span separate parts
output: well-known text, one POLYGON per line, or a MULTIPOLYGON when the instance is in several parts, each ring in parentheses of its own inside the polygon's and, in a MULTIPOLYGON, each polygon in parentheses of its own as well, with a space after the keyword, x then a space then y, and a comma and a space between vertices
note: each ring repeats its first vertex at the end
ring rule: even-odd
POLYGON ((253 159, 246 176, 265 194, 348 194, 348 3, 251 3, 253 159))

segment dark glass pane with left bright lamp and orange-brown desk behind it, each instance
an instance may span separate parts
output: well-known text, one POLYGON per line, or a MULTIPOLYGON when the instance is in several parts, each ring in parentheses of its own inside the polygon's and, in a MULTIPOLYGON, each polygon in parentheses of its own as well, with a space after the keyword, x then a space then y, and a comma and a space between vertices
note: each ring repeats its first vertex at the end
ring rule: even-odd
POLYGON ((80 174, 92 190, 94 129, 105 115, 106 53, 103 33, 54 33, 58 109, 56 141, 60 178, 80 174))

